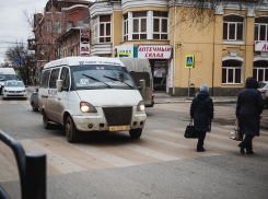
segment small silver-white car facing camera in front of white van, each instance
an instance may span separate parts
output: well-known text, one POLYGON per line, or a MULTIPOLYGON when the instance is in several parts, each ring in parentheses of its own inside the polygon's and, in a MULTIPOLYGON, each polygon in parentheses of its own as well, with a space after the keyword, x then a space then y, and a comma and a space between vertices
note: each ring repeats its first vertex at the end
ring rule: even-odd
POLYGON ((22 81, 9 80, 4 83, 3 99, 7 98, 27 98, 27 92, 22 81))

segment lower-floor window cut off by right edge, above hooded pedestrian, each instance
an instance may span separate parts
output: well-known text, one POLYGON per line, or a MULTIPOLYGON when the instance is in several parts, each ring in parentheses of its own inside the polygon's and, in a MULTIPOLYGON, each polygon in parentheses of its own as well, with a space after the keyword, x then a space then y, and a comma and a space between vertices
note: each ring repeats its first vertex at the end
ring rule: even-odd
POLYGON ((258 82, 268 81, 268 61, 254 62, 253 78, 258 82))

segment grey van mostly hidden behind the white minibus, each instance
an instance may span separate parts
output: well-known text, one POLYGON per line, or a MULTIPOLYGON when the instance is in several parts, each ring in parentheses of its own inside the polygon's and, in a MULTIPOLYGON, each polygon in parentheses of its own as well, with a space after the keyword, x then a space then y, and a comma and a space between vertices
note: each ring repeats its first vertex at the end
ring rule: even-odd
POLYGON ((153 107, 153 77, 151 66, 148 59, 121 57, 119 60, 126 66, 136 86, 140 91, 145 107, 153 107), (143 81, 141 81, 143 80, 143 81), (142 85, 144 84, 144 85, 142 85), (142 89, 144 87, 144 89, 142 89))

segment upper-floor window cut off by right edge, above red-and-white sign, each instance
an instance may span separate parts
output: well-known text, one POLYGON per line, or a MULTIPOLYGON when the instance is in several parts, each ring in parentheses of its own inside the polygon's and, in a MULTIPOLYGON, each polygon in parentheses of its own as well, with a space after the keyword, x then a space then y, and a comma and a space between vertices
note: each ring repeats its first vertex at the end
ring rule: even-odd
POLYGON ((268 17, 255 19, 255 40, 268 40, 268 17))

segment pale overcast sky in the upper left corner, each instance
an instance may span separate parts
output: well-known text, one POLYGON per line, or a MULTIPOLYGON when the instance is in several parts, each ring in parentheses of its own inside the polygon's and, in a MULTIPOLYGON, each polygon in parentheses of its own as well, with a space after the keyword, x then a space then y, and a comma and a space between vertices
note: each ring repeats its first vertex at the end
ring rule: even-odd
MULTIPOLYGON (((94 0, 88 0, 94 1, 94 0)), ((28 13, 43 13, 47 0, 9 0, 0 5, 0 63, 5 59, 5 51, 12 42, 34 38, 30 24, 24 21, 23 10, 28 13)))

